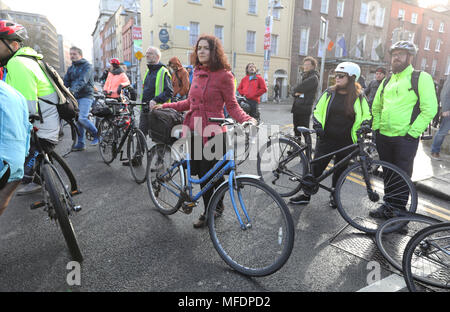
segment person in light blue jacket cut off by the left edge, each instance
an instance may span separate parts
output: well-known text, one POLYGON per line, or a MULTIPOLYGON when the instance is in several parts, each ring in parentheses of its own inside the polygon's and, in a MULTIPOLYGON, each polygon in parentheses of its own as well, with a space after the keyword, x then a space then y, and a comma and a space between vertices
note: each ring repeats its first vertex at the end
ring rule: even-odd
POLYGON ((22 181, 31 127, 27 101, 0 80, 0 215, 22 181))

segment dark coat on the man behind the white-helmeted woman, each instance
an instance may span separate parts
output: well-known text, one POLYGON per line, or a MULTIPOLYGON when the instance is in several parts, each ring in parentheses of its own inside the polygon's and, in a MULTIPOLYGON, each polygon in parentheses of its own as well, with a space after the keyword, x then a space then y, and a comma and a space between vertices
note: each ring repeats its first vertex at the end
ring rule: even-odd
POLYGON ((294 95, 294 104, 291 113, 311 113, 312 106, 316 100, 317 88, 319 86, 319 73, 316 71, 306 72, 302 75, 302 82, 294 88, 295 93, 303 93, 304 97, 294 95))

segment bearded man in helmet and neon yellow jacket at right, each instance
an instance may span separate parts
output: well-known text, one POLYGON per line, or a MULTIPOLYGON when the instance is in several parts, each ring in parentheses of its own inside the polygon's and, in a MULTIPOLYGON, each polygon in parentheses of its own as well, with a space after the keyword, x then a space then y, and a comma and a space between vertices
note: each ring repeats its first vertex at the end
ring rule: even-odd
MULTIPOLYGON (((389 53, 392 76, 387 83, 382 84, 375 95, 372 128, 376 133, 380 159, 396 165, 411 177, 420 135, 437 113, 436 92, 433 78, 426 72, 419 75, 418 96, 414 91, 414 68, 411 65, 417 53, 414 43, 396 42, 389 53)), ((371 217, 389 218, 391 209, 388 208, 404 209, 406 203, 388 202, 391 192, 389 188, 386 182, 385 203, 371 211, 371 217)))

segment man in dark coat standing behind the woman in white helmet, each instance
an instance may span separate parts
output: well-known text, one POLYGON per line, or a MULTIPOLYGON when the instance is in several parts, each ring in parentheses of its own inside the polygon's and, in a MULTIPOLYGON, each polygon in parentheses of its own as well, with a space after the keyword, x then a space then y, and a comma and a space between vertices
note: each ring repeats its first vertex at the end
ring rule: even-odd
POLYGON ((309 128, 312 107, 316 99, 317 87, 319 86, 319 73, 316 71, 317 61, 313 57, 305 57, 303 60, 302 82, 294 88, 293 114, 294 133, 301 139, 297 127, 309 128))

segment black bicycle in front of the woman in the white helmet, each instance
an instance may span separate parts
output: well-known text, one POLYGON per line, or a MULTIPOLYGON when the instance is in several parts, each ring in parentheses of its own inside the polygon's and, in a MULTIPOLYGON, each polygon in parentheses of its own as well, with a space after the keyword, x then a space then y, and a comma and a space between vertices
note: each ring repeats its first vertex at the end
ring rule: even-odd
MULTIPOLYGON (((370 129, 357 131, 357 143, 314 160, 311 135, 315 130, 299 127, 298 131, 305 139, 303 147, 293 140, 276 138, 263 146, 258 154, 258 174, 281 196, 292 196, 301 189, 306 194, 314 195, 322 188, 334 194, 337 209, 345 221, 371 234, 375 234, 380 220, 371 217, 369 212, 381 205, 392 215, 399 211, 416 211, 417 191, 408 175, 395 165, 372 158, 370 129), (325 170, 320 177, 312 175, 312 164, 347 150, 351 153, 325 170), (353 165, 342 173, 335 189, 321 184, 351 160, 353 165)), ((400 224, 389 230, 395 231, 399 227, 400 224)))

